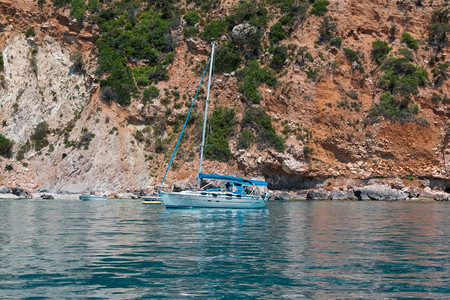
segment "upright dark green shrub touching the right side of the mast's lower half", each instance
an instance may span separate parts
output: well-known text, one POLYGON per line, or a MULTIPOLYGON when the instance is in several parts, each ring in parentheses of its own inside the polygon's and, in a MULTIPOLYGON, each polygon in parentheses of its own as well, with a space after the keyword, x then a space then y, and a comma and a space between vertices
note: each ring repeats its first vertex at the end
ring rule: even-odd
POLYGON ((228 146, 230 135, 234 132, 234 109, 219 106, 214 109, 208 120, 208 135, 205 141, 205 157, 227 161, 231 157, 228 146))

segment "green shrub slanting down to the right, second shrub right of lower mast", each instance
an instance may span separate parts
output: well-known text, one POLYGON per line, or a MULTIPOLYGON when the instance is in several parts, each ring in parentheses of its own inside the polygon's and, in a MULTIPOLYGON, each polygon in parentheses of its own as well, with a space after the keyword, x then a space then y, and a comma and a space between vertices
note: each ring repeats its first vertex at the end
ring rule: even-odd
POLYGON ((242 128, 252 128, 258 133, 260 150, 272 146, 278 152, 284 152, 284 139, 276 134, 272 119, 263 108, 248 108, 242 119, 242 128))

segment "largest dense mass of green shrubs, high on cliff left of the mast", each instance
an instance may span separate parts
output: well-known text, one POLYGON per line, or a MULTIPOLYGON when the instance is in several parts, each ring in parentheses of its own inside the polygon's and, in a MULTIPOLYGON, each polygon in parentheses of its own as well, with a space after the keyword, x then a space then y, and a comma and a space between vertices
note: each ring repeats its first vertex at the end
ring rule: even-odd
POLYGON ((174 17, 170 3, 158 6, 160 12, 149 9, 132 16, 127 10, 135 10, 135 2, 117 2, 117 9, 99 12, 97 72, 106 75, 100 82, 105 102, 128 105, 131 93, 137 91, 135 80, 139 86, 147 86, 168 79, 167 66, 173 61, 175 46, 171 20, 164 19, 174 17), (132 60, 145 60, 146 64, 133 71, 129 66, 132 60))

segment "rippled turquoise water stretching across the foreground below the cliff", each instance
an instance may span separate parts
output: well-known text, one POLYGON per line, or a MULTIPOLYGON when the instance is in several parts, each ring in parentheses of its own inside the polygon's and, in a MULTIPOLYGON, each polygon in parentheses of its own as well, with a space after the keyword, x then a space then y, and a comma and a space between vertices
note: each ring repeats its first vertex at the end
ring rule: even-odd
POLYGON ((0 201, 0 298, 450 298, 450 203, 0 201))

